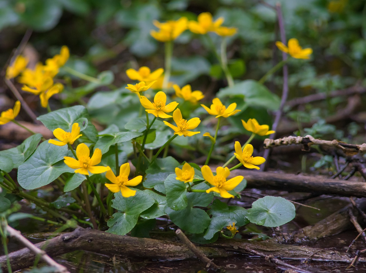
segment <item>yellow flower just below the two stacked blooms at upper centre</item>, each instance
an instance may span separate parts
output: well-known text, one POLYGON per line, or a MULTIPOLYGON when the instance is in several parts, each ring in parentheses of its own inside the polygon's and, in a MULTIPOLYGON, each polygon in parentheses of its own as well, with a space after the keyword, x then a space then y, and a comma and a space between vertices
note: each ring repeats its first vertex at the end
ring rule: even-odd
POLYGON ((151 103, 145 96, 141 96, 140 102, 142 106, 146 108, 146 112, 160 118, 171 118, 171 115, 165 113, 173 111, 179 104, 178 102, 171 102, 168 105, 165 105, 165 103, 167 103, 167 95, 165 95, 163 91, 156 93, 154 103, 151 103))

